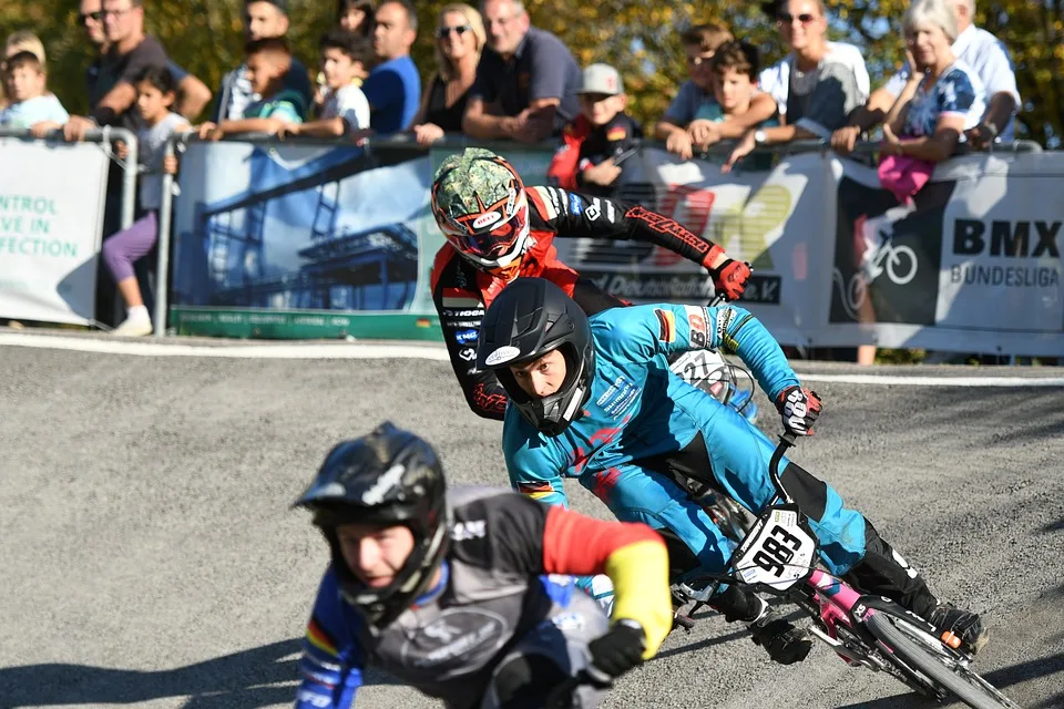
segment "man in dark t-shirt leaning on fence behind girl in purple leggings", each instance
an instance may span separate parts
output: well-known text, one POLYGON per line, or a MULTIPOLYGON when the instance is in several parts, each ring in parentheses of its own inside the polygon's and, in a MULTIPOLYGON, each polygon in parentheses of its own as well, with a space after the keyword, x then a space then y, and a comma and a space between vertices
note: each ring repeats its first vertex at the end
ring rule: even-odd
POLYGON ((163 45, 144 34, 141 0, 103 0, 101 18, 106 51, 89 94, 92 110, 88 116, 70 117, 63 126, 69 141, 81 141, 85 131, 103 125, 137 131, 141 120, 134 105, 136 78, 149 66, 165 66, 168 61, 163 45))

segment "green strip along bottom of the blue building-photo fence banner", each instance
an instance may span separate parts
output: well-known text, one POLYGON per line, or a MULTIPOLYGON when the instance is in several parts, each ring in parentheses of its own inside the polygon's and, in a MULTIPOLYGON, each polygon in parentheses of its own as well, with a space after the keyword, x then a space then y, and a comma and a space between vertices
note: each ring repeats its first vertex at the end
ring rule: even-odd
POLYGON ((177 335, 279 340, 442 340, 433 315, 392 312, 323 312, 260 308, 174 306, 170 321, 177 335))

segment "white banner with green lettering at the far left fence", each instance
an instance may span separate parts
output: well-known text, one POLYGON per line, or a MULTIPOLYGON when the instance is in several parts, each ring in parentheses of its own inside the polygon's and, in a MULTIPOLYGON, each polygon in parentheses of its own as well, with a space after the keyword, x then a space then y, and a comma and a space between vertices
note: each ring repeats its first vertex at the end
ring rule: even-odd
POLYGON ((92 321, 106 182, 98 144, 0 138, 0 317, 92 321))

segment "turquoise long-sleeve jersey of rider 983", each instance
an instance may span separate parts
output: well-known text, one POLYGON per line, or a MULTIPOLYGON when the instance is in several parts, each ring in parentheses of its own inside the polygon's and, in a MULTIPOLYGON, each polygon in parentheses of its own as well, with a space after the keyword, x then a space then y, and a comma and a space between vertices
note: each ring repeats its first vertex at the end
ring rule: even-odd
POLYGON ((514 407, 505 414, 511 484, 548 504, 566 504, 562 477, 577 477, 604 497, 611 469, 690 443, 699 430, 693 409, 707 394, 669 371, 669 354, 705 348, 738 354, 774 401, 799 383, 779 345, 743 308, 646 305, 604 310, 590 322, 595 376, 583 415, 552 438, 514 407))

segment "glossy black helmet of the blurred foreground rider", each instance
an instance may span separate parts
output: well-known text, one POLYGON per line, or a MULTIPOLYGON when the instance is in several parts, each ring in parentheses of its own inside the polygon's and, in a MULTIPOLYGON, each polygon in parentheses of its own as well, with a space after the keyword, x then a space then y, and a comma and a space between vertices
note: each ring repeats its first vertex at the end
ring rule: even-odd
POLYGON ((444 492, 432 446, 386 421, 369 435, 336 445, 293 506, 314 513, 345 599, 385 627, 424 593, 447 552, 444 492), (369 588, 348 568, 336 527, 350 523, 403 524, 413 533, 413 551, 388 586, 369 588))

